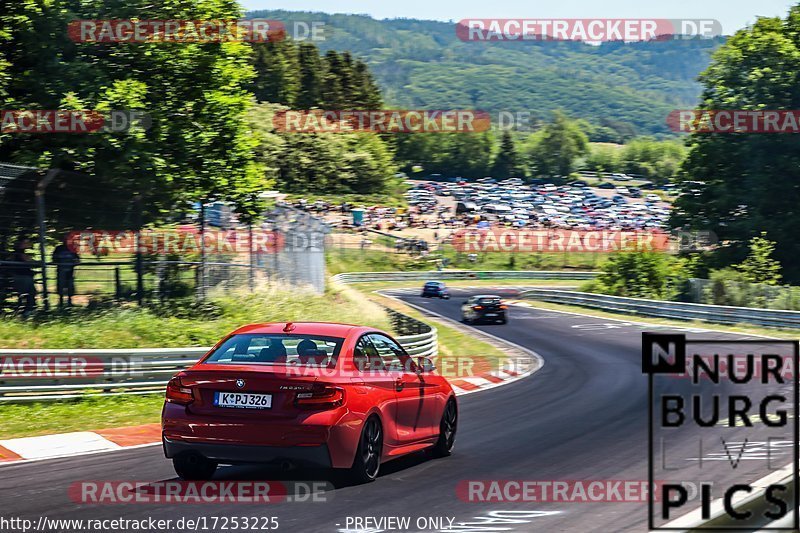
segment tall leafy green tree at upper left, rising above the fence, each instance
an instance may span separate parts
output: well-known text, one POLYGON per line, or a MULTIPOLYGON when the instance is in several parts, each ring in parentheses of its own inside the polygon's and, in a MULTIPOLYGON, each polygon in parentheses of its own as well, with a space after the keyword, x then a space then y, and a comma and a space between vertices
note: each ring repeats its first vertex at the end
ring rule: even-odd
MULTIPOLYGON (((120 133, 7 135, 0 160, 92 174, 95 191, 139 197, 145 220, 163 220, 196 200, 257 209, 258 193, 269 183, 254 160, 258 141, 245 120, 251 101, 245 87, 254 76, 249 45, 75 43, 67 34, 75 19, 236 19, 236 2, 6 5, 0 13, 3 109, 141 110, 152 124, 120 133)), ((102 201, 102 194, 86 196, 87 203, 102 201)))

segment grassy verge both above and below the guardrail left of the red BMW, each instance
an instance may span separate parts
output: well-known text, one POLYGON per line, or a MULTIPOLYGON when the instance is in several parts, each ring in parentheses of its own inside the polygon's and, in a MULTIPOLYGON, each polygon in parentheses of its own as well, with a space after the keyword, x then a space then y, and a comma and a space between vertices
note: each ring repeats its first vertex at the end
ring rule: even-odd
MULTIPOLYGON (((264 290, 212 297, 202 307, 79 310, 45 322, 0 322, 3 348, 144 348, 211 346, 231 330, 270 321, 330 321, 391 331, 389 318, 352 289, 325 295, 264 290)), ((160 394, 94 397, 0 407, 0 439, 158 422, 160 394), (35 421, 35 423, 32 423, 35 421)))

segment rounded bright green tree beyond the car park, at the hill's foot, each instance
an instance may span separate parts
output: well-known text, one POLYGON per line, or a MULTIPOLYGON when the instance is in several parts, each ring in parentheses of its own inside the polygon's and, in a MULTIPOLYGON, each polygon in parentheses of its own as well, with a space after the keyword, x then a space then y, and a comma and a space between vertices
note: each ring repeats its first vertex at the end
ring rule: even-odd
POLYGON ((568 176, 588 146, 589 139, 580 126, 556 111, 553 122, 529 139, 531 172, 547 177, 568 176))

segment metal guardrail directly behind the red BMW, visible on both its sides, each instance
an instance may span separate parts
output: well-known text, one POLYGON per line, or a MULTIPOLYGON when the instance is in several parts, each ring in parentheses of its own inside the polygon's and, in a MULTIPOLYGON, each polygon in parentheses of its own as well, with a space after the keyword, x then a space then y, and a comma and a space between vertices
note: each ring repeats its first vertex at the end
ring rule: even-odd
MULTIPOLYGON (((413 357, 435 358, 438 354, 436 328, 415 318, 388 310, 392 325, 400 335, 397 342, 413 357)), ((24 368, 60 368, 66 374, 78 364, 85 368, 79 377, 8 375, 9 365, 0 364, 0 402, 67 400, 90 395, 161 394, 176 372, 191 366, 210 348, 163 348, 128 350, 0 350, 0 363, 6 358, 24 368), (45 359, 49 361, 45 362, 45 359), (60 358, 60 363, 56 359, 60 358), (67 365, 67 368, 57 366, 67 365), (44 365, 44 366, 42 366, 44 365)))

